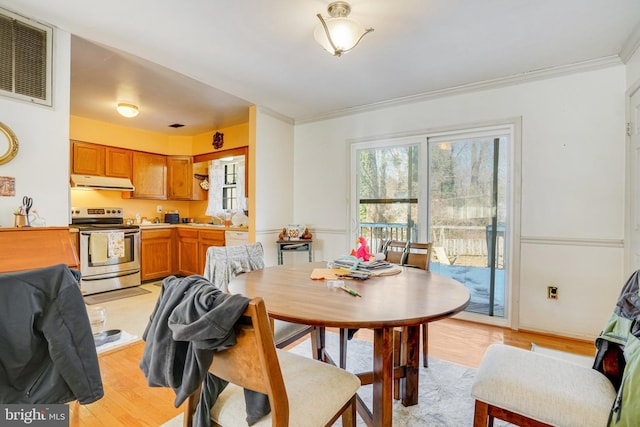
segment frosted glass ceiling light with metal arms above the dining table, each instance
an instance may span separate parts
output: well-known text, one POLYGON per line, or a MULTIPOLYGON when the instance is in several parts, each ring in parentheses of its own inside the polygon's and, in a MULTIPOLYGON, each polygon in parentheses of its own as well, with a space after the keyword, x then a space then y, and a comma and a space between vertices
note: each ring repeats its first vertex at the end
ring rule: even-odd
POLYGON ((329 17, 326 19, 319 13, 316 15, 320 24, 316 26, 313 36, 320 46, 334 56, 349 52, 373 31, 373 28, 364 28, 359 22, 347 18, 351 13, 351 6, 347 2, 333 2, 327 11, 329 17))

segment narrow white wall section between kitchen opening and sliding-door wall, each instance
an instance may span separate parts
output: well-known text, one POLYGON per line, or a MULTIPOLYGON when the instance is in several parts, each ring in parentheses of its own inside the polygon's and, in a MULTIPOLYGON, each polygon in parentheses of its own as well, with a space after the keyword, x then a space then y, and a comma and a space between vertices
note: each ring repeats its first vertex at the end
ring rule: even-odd
MULTIPOLYGON (((265 264, 277 264, 275 241, 293 218, 293 124, 269 110, 256 109, 256 241, 265 264)), ((250 212, 249 215, 253 215, 250 212)))

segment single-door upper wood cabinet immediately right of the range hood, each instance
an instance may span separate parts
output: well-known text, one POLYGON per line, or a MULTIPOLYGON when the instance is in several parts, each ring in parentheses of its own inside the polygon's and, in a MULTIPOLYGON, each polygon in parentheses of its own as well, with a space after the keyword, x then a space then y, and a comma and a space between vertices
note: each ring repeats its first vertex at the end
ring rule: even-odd
POLYGON ((161 154, 133 152, 131 181, 135 190, 130 196, 136 199, 167 199, 167 157, 161 154))

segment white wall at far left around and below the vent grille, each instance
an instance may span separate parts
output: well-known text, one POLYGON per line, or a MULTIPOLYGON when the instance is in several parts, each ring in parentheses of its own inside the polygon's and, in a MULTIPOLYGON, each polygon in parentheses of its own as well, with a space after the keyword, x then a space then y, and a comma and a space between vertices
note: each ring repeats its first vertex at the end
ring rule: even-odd
POLYGON ((15 197, 0 197, 0 226, 13 227, 22 196, 48 226, 69 225, 69 75, 71 38, 55 31, 53 107, 0 97, 0 121, 18 138, 18 155, 0 165, 0 176, 15 178, 15 197))

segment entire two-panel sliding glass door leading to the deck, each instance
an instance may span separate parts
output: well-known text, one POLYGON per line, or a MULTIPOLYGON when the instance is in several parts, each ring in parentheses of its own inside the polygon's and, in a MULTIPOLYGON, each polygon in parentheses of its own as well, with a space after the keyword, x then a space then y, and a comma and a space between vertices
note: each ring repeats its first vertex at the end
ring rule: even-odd
POLYGON ((431 242, 431 271, 463 283, 466 311, 504 317, 509 127, 352 145, 354 237, 431 242))

